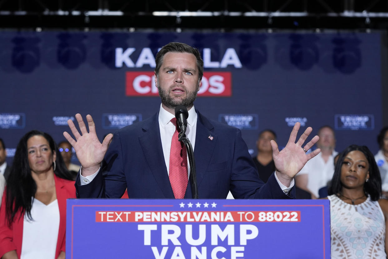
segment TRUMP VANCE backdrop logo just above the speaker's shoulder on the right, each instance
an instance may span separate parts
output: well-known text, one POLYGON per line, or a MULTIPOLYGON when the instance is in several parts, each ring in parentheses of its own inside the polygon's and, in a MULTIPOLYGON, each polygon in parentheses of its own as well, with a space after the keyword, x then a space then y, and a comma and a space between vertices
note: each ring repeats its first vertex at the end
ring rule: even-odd
POLYGON ((257 114, 220 114, 218 121, 239 129, 257 129, 259 118, 257 114))

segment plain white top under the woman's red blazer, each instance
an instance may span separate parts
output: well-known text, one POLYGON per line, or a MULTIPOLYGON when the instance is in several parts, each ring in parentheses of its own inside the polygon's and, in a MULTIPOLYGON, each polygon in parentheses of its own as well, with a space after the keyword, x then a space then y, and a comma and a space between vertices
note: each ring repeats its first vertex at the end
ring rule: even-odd
POLYGON ((20 259, 54 259, 59 232, 58 200, 45 205, 33 199, 32 221, 23 221, 23 241, 20 259))

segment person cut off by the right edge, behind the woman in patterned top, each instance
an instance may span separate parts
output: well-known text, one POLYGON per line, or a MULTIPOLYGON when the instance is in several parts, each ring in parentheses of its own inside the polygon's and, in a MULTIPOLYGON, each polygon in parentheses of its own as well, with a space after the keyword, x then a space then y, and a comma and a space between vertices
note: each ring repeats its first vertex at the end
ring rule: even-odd
POLYGON ((383 196, 388 197, 388 127, 380 130, 377 143, 380 149, 374 156, 374 160, 376 160, 380 170, 383 196))

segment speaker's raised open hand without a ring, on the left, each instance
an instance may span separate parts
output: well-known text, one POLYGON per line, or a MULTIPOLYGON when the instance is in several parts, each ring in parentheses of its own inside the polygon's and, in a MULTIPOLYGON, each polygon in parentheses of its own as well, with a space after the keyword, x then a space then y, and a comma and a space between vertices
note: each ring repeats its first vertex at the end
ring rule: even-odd
POLYGON ((82 176, 90 176, 97 172, 100 167, 100 163, 104 159, 104 155, 108 149, 109 143, 112 140, 113 134, 108 134, 104 141, 100 143, 92 116, 86 115, 88 122, 89 132, 83 122, 82 116, 77 113, 75 118, 80 127, 81 134, 76 129, 72 120, 68 120, 68 125, 76 140, 74 140, 68 132, 63 132, 63 136, 73 146, 78 161, 82 165, 82 176))

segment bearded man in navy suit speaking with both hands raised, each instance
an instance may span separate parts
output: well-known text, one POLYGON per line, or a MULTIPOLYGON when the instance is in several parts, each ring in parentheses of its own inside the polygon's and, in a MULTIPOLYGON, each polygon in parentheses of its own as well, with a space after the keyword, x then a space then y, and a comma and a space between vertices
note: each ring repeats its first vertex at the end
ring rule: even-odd
POLYGON ((241 131, 210 121, 194 109, 203 75, 199 51, 183 43, 169 43, 158 52, 155 62, 155 84, 161 106, 154 116, 120 129, 114 136, 108 134, 102 143, 90 115, 86 117, 89 132, 80 114, 76 114, 76 120, 81 134, 68 121, 76 140, 67 132, 64 136, 74 147, 82 166, 76 180, 78 197, 120 198, 127 188, 130 198, 191 198, 185 149, 180 150, 179 157, 173 148, 177 128, 171 119, 175 118, 178 105, 186 106, 189 111, 186 134, 194 148, 199 198, 226 198, 229 190, 235 198, 294 197, 293 177, 319 153, 316 150, 305 154, 318 140, 317 136, 301 147, 312 131, 310 127, 295 143, 300 127, 296 123, 281 152, 275 141, 271 141, 277 171, 264 184, 241 131), (182 172, 184 175, 179 181, 174 178, 178 167, 180 177, 182 172), (177 188, 183 190, 181 195, 177 194, 177 188))

